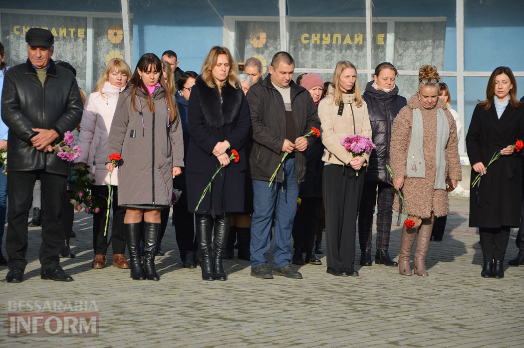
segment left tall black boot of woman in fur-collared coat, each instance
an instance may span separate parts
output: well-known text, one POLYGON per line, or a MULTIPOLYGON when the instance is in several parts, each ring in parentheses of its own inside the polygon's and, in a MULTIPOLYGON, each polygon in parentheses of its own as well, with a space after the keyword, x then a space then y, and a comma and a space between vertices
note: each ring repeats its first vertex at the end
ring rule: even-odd
POLYGON ((195 222, 196 241, 198 242, 201 256, 200 267, 202 268, 202 279, 215 280, 211 249, 211 232, 215 221, 211 215, 195 214, 195 222))

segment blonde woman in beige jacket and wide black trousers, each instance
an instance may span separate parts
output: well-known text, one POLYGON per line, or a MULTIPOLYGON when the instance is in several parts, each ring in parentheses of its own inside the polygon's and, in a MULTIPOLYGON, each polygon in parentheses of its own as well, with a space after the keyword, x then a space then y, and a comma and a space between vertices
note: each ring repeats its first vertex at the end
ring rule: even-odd
POLYGON ((341 140, 354 134, 371 138, 371 125, 355 66, 348 61, 338 62, 333 84, 329 95, 319 104, 320 132, 325 146, 322 191, 328 273, 358 276, 354 269, 356 219, 369 153, 353 156, 341 140))

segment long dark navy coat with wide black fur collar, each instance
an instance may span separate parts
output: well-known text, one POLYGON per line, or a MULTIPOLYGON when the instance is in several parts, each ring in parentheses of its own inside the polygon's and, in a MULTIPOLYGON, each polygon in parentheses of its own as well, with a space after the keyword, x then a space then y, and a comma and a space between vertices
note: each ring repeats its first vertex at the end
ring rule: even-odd
MULTIPOLYGON (((223 214, 244 211, 244 182, 248 158, 244 143, 251 127, 249 107, 241 88, 226 82, 222 87, 222 99, 217 87, 208 87, 202 77, 196 78, 188 103, 188 154, 185 161, 185 177, 188 189, 188 210, 196 214, 223 214), (216 143, 227 140, 231 150, 238 151, 240 160, 224 167, 213 181, 199 209, 196 205, 204 188, 220 167, 213 155, 216 143), (211 197, 212 203, 211 204, 211 197)), ((230 154, 230 151, 226 151, 230 154)))

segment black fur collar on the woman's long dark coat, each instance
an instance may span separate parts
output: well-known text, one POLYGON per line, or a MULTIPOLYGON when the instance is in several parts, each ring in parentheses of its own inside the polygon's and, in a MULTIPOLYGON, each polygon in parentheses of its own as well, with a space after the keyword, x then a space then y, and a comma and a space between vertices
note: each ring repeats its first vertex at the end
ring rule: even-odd
POLYGON ((226 82, 222 87, 223 103, 221 105, 218 87, 209 88, 201 76, 196 78, 195 87, 198 88, 202 113, 211 127, 216 129, 233 123, 242 104, 244 92, 241 88, 234 88, 226 82))

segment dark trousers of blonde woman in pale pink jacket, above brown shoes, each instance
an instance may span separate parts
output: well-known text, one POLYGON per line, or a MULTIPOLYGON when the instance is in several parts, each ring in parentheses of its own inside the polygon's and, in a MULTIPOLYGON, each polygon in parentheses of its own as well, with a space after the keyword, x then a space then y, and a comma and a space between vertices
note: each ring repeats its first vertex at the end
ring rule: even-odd
MULTIPOLYGON (((118 206, 118 186, 112 185, 111 190, 113 192, 113 228, 111 230, 113 255, 124 254, 126 251, 126 238, 124 234, 126 208, 118 206)), ((107 185, 93 185, 91 187, 91 194, 97 200, 100 208, 100 212, 93 215, 93 250, 95 255, 106 255, 109 246, 107 238, 110 231, 107 231, 106 235, 104 235, 104 231, 109 189, 107 185)))

